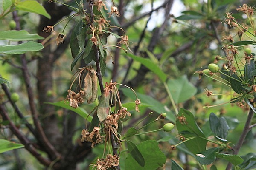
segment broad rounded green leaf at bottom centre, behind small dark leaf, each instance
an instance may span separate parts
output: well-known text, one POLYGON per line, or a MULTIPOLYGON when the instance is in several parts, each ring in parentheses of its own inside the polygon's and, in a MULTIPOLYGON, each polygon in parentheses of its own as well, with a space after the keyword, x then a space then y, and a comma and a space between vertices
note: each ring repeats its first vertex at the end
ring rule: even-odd
POLYGON ((137 149, 145 160, 144 167, 141 167, 129 153, 125 160, 125 170, 156 170, 166 163, 166 156, 159 149, 158 142, 155 140, 144 141, 137 145, 137 149))

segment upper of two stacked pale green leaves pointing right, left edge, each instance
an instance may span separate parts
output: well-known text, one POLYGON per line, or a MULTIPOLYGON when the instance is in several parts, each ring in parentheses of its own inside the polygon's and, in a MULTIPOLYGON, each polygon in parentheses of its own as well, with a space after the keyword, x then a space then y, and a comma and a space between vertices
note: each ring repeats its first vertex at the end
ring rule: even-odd
POLYGON ((41 37, 38 34, 29 34, 25 30, 0 31, 0 40, 25 41, 25 40, 41 40, 41 39, 44 39, 44 37, 41 37))

